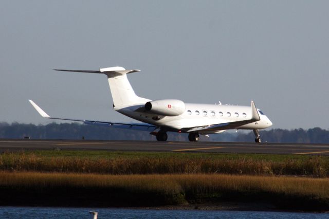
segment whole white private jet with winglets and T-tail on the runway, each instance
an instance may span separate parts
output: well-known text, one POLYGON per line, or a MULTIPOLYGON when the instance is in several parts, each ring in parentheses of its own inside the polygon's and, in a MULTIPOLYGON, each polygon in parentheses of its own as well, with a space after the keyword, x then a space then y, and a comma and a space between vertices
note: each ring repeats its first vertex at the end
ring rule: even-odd
POLYGON ((166 141, 167 132, 188 133, 190 141, 198 141, 200 135, 222 133, 226 130, 253 130, 255 142, 261 143, 259 130, 272 125, 264 113, 251 101, 250 106, 185 103, 177 99, 150 100, 135 94, 127 74, 140 70, 123 67, 107 67, 99 70, 57 71, 87 72, 107 76, 115 111, 142 123, 119 123, 51 117, 32 100, 29 102, 38 113, 48 119, 81 121, 84 124, 106 125, 123 129, 148 131, 158 141, 166 141))

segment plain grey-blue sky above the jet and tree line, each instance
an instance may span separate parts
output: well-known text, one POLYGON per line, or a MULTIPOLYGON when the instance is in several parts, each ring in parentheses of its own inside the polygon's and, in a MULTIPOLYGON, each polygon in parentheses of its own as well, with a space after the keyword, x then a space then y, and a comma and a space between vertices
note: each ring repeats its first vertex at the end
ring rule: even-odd
POLYGON ((53 68, 141 69, 150 99, 249 105, 274 128, 329 128, 329 1, 2 1, 0 121, 51 116, 133 121, 106 76, 53 68))

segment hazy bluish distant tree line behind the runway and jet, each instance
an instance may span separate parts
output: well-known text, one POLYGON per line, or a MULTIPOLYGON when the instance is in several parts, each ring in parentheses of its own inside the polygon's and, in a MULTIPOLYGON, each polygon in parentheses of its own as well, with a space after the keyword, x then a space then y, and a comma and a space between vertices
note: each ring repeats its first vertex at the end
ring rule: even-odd
MULTIPOLYGON (((46 125, 0 123, 0 138, 32 139, 98 139, 98 140, 155 140, 149 132, 116 129, 107 126, 84 125, 80 123, 50 123, 46 125)), ((278 143, 329 143, 329 131, 313 129, 272 129, 261 131, 263 142, 278 143)), ((187 141, 187 134, 169 133, 168 140, 187 141)), ((253 142, 252 132, 224 132, 210 137, 202 136, 202 141, 253 142)))

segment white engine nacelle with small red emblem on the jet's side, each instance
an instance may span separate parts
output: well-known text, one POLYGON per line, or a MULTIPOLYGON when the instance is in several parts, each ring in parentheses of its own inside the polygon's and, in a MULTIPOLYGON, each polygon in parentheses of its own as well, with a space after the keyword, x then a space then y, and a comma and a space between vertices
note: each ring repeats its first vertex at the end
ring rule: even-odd
POLYGON ((185 111, 185 103, 181 100, 152 100, 145 103, 150 113, 162 116, 178 116, 185 111))

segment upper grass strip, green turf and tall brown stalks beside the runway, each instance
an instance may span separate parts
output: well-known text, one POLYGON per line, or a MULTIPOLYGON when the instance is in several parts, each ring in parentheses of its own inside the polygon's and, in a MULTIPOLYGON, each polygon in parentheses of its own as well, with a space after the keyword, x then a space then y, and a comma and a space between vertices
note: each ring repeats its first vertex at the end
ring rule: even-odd
POLYGON ((328 177, 329 158, 307 155, 34 151, 3 153, 0 170, 101 174, 236 174, 328 177))

